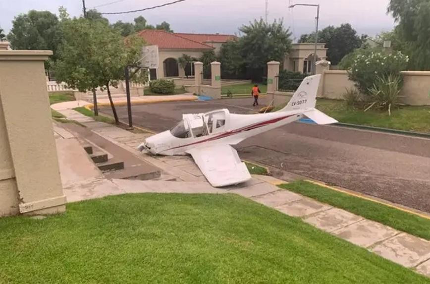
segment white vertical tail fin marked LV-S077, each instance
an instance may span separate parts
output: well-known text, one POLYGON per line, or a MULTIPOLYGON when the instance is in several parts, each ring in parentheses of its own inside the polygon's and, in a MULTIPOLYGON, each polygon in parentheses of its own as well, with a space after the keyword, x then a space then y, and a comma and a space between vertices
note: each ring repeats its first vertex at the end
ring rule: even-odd
POLYGON ((303 79, 297 91, 285 108, 279 112, 297 111, 315 108, 317 103, 317 91, 320 85, 321 74, 308 76, 303 79))

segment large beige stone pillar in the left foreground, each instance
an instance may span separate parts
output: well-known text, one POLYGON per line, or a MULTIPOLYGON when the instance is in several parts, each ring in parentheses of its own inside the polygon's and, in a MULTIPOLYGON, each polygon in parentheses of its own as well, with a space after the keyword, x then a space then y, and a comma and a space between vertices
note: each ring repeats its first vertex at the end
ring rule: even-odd
POLYGON ((65 210, 44 61, 0 51, 0 216, 65 210))

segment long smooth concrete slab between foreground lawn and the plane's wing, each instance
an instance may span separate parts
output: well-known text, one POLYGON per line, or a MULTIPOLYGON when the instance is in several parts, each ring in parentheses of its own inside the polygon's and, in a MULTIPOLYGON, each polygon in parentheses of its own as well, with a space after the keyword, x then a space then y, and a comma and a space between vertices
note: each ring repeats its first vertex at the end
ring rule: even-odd
POLYGON ((225 189, 212 187, 202 181, 164 181, 164 180, 128 180, 112 179, 125 193, 227 193, 225 189))

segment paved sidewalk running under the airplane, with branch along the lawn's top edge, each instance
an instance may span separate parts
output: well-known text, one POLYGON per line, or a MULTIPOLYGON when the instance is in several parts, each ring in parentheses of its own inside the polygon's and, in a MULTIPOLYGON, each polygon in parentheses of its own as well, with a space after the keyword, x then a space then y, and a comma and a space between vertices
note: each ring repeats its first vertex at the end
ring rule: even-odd
POLYGON ((147 162, 163 170, 165 179, 175 179, 175 181, 88 179, 65 189, 69 202, 138 192, 236 193, 288 216, 301 218, 308 224, 430 277, 430 242, 425 239, 279 189, 276 185, 284 181, 273 177, 256 175, 238 186, 213 188, 190 157, 158 157, 138 152, 136 146, 150 134, 134 134, 113 125, 95 122, 72 110, 59 112, 69 119, 83 123, 98 135, 131 153, 143 156, 147 162))

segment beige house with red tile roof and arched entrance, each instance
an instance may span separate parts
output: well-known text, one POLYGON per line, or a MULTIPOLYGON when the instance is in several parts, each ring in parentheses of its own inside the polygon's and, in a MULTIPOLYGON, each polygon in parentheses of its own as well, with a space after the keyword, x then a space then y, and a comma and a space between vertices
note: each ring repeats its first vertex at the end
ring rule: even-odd
POLYGON ((193 64, 186 68, 178 65, 183 54, 200 58, 205 51, 219 52, 221 45, 235 38, 234 35, 169 33, 163 30, 142 30, 138 33, 148 45, 158 46, 159 68, 151 70, 152 78, 184 77, 192 75, 193 64))

